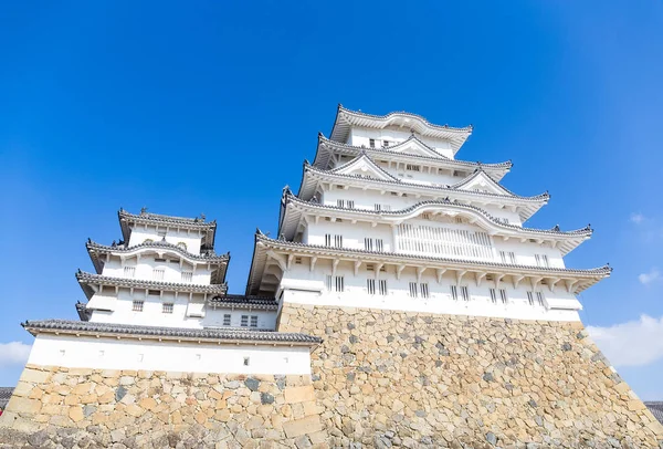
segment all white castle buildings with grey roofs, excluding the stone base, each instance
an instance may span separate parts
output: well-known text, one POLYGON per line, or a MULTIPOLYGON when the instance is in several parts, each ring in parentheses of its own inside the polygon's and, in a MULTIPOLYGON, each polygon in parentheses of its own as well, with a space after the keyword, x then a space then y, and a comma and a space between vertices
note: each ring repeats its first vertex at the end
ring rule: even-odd
POLYGON ((284 303, 579 321, 576 295, 610 275, 565 265, 591 229, 526 227, 549 196, 501 186, 511 163, 457 160, 471 133, 339 106, 277 238, 255 236, 245 295, 227 292, 214 221, 120 210, 119 243, 87 242, 81 321, 23 324, 29 364, 309 374, 322 341, 278 332, 284 303))

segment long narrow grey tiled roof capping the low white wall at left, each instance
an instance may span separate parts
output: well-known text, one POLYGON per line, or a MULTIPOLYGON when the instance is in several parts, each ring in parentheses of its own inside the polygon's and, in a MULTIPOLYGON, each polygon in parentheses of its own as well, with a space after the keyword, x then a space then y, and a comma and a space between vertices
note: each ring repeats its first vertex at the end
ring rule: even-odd
POLYGON ((252 343, 288 343, 314 345, 322 343, 315 336, 296 333, 284 333, 266 330, 249 331, 244 328, 185 328, 137 326, 115 323, 91 323, 67 320, 27 321, 21 325, 32 335, 42 332, 60 332, 72 334, 114 334, 127 336, 162 337, 193 341, 228 341, 252 343))

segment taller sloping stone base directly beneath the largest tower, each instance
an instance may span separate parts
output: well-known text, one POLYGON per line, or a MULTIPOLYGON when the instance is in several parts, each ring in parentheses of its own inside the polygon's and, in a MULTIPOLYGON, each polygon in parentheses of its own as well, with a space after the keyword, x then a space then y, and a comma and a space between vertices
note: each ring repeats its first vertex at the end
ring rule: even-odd
POLYGON ((285 304, 278 330, 325 340, 313 385, 333 446, 663 448, 581 323, 285 304))

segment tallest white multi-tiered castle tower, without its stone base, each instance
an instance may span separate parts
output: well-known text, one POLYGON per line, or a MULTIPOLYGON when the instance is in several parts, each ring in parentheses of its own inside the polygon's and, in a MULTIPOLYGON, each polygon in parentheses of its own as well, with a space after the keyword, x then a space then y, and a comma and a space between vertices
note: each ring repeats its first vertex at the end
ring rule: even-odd
POLYGON ((255 237, 248 294, 280 302, 524 320, 579 321, 576 295, 611 269, 568 269, 589 239, 525 222, 548 194, 499 180, 511 161, 456 160, 472 127, 338 106, 297 195, 285 188, 278 239, 255 237))

